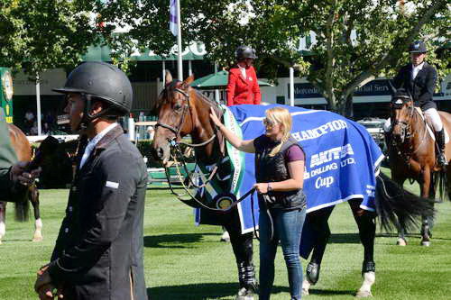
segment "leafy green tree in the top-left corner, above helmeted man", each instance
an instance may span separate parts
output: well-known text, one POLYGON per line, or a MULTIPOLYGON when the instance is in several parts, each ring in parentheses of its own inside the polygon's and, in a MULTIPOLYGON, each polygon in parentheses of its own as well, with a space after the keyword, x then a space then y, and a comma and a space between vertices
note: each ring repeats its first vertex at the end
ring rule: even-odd
POLYGON ((87 0, 2 0, 0 65, 32 76, 77 65, 99 38, 93 9, 87 0))

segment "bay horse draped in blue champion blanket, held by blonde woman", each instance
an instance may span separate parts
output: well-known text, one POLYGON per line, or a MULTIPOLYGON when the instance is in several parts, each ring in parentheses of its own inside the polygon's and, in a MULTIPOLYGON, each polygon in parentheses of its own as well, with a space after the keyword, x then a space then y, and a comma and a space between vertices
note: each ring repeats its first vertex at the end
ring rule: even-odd
MULTIPOLYGON (((172 80, 170 73, 166 74, 167 84, 161 91, 156 105, 158 123, 152 141, 153 156, 155 159, 162 161, 163 165, 167 167, 170 160, 171 147, 179 143, 182 137, 189 134, 191 141, 194 143, 193 146, 196 146, 197 161, 205 166, 216 165, 219 174, 222 171, 220 168, 223 166, 220 162, 224 161, 223 158, 226 157, 227 153, 224 147, 224 137, 221 135, 221 132, 216 130, 209 114, 210 108, 215 110, 218 117, 221 117, 223 112, 215 101, 208 99, 189 86, 193 80, 194 77, 192 76, 184 81, 172 80)), ((393 212, 402 214, 407 221, 412 220, 413 215, 419 216, 422 212, 428 211, 429 214, 432 214, 431 205, 428 204, 428 201, 422 201, 418 196, 403 191, 390 178, 381 174, 377 181, 376 196, 379 195, 380 204, 376 206, 379 207, 378 212, 382 217, 382 224, 391 222, 398 225, 393 212), (382 184, 379 184, 380 182, 382 184), (384 192, 385 194, 383 194, 384 192), (390 205, 383 205, 388 202, 391 202, 390 205)), ((358 225, 360 238, 364 245, 364 264, 362 268, 364 283, 359 288, 357 295, 365 297, 372 295, 371 286, 375 280, 373 246, 376 231, 374 218, 376 214, 360 209, 361 201, 361 199, 351 199, 348 202, 353 211, 354 220, 358 225)), ((196 207, 196 203, 189 202, 187 204, 196 207)), ((205 209, 205 205, 198 205, 197 207, 199 206, 205 209)), ((330 235, 327 219, 332 210, 333 206, 309 213, 306 220, 306 223, 309 222, 310 226, 318 234, 314 241, 312 258, 308 263, 307 279, 303 284, 303 292, 305 294, 308 294, 309 286, 316 284, 318 281, 321 259, 330 235)), ((232 209, 227 214, 216 212, 210 212, 210 214, 216 217, 217 224, 225 226, 230 234, 240 282, 240 289, 236 299, 253 299, 253 292, 256 287, 253 273, 253 233, 241 234, 237 211, 237 209, 232 209)))

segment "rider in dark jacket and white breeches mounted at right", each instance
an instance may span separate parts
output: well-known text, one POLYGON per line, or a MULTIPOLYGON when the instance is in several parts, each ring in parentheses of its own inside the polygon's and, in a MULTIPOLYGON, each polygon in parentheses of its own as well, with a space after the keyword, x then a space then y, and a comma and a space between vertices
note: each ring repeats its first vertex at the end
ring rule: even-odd
POLYGON ((425 61, 427 49, 423 41, 411 43, 409 52, 410 64, 400 68, 398 75, 393 79, 394 87, 405 88, 412 96, 415 105, 421 108, 426 118, 432 123, 438 145, 437 162, 440 166, 446 166, 445 130, 437 113, 437 105, 432 101, 437 82, 437 70, 425 61))

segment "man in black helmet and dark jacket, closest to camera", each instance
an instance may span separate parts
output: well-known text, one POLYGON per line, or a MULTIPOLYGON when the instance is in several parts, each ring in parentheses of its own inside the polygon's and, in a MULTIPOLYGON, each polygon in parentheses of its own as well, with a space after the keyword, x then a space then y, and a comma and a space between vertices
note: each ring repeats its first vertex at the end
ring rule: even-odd
POLYGON ((43 297, 56 288, 64 299, 147 299, 146 166, 116 123, 130 112, 132 85, 113 65, 85 62, 54 91, 66 95, 70 127, 87 145, 79 147, 66 216, 35 290, 43 297))

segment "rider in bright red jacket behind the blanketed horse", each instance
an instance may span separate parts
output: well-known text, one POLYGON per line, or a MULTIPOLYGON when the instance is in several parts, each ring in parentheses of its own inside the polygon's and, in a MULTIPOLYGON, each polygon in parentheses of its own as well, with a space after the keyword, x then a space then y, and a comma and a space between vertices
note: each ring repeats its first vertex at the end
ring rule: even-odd
POLYGON ((236 64, 229 69, 227 106, 259 105, 262 101, 257 75, 253 68, 255 51, 249 46, 240 46, 235 51, 236 64))

